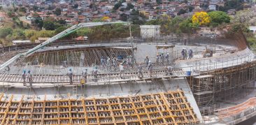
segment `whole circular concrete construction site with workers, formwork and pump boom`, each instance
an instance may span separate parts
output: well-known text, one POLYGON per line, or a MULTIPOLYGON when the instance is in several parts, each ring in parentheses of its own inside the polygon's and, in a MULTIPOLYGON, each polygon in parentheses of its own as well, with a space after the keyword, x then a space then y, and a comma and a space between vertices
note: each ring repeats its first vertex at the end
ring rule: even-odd
POLYGON ((256 57, 243 34, 58 41, 117 23, 131 22, 82 23, 0 48, 0 123, 238 124, 256 115, 256 57))

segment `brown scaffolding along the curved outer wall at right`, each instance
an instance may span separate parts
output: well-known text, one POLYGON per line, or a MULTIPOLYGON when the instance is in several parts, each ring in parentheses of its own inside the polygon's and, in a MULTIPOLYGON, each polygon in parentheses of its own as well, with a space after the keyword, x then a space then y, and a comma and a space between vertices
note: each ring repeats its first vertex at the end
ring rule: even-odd
MULTIPOLYGON (((256 62, 202 71, 187 77, 199 108, 229 103, 250 94, 255 88, 256 62)), ((217 105, 218 106, 218 105, 217 105)))

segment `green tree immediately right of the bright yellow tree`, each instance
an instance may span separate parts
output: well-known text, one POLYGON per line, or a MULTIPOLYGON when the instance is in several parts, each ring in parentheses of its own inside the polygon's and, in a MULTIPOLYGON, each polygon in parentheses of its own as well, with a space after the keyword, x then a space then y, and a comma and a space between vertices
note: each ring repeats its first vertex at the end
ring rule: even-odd
POLYGON ((211 23, 210 25, 216 27, 222 23, 229 23, 230 17, 227 13, 222 11, 212 11, 209 12, 208 15, 210 16, 211 23))

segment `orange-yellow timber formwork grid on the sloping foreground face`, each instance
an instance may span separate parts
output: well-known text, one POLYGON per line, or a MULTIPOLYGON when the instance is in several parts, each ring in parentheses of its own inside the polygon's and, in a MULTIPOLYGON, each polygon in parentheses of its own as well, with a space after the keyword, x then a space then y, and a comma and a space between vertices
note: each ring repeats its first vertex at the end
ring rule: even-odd
MULTIPOLYGON (((3 94, 1 94, 1 97, 3 94)), ((181 90, 114 98, 1 101, 1 124, 194 124, 181 90)))

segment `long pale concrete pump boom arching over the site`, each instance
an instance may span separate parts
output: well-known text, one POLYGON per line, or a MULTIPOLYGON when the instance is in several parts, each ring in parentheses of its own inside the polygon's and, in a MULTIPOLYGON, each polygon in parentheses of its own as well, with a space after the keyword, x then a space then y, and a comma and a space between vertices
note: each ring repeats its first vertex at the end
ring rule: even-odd
POLYGON ((36 52, 36 50, 41 49, 45 45, 53 43, 54 41, 56 41, 59 38, 62 38, 64 36, 68 35, 68 34, 71 34, 73 31, 76 31, 76 30, 78 30, 80 28, 83 28, 83 27, 94 27, 94 26, 101 26, 101 25, 104 25, 104 24, 131 24, 131 22, 85 22, 85 23, 80 23, 80 24, 73 25, 72 27, 69 27, 68 29, 62 31, 61 33, 59 33, 55 36, 53 36, 52 38, 50 38, 47 41, 41 43, 40 45, 37 45, 36 47, 33 47, 31 50, 15 55, 14 57, 9 59, 5 63, 1 64, 0 71, 3 68, 5 68, 6 66, 13 63, 13 61, 16 61, 17 59, 19 59, 20 57, 28 57, 29 55, 36 52))

